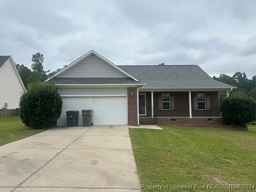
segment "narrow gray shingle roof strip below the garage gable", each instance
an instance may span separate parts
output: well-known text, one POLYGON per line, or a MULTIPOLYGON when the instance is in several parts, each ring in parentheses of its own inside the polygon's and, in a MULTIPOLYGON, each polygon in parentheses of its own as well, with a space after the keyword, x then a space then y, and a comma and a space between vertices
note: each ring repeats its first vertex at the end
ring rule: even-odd
MULTIPOLYGON (((51 81, 51 80, 50 80, 51 81)), ((49 81, 49 82, 50 82, 49 81)), ((132 78, 54 78, 54 84, 138 84, 132 78)))

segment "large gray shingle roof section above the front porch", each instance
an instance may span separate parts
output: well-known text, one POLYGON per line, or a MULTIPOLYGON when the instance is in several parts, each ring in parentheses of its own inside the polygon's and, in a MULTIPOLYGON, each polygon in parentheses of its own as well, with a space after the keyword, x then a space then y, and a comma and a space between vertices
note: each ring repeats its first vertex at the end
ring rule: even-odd
POLYGON ((213 80, 198 65, 118 66, 144 88, 236 88, 213 80))

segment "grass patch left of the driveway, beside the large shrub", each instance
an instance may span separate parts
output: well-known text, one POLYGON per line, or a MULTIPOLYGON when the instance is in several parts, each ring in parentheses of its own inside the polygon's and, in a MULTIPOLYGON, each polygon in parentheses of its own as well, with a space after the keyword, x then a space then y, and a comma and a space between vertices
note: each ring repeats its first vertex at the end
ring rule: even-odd
POLYGON ((19 116, 0 116, 0 146, 22 138, 43 132, 26 127, 19 116))

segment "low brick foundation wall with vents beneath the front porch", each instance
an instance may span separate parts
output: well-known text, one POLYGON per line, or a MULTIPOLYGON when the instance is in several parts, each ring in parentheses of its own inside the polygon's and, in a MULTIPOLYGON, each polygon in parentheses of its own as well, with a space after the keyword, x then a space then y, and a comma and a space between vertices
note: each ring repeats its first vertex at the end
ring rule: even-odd
MULTIPOLYGON (((175 122, 171 121, 171 117, 158 117, 156 118, 156 124, 158 125, 172 125, 172 126, 224 126, 222 117, 213 117, 213 121, 208 121, 208 117, 176 117, 175 122)), ((140 124, 154 124, 153 118, 140 118, 140 124)))

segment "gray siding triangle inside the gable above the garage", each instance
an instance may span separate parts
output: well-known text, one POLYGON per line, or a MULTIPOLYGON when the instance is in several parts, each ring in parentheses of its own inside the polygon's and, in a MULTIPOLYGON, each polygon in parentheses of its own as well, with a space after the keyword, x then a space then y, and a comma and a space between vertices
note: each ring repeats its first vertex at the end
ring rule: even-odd
POLYGON ((98 58, 96 55, 80 61, 78 64, 60 74, 58 77, 128 77, 122 72, 116 70, 108 63, 98 58))

